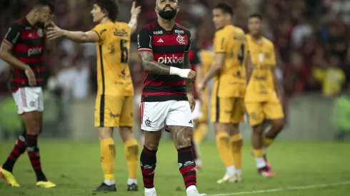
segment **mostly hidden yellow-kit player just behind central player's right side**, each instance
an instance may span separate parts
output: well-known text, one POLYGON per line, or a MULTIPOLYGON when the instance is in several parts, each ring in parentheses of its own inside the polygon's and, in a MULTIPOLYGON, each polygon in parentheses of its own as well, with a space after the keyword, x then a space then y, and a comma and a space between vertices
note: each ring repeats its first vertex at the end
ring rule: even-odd
MULTIPOLYGON (((201 66, 198 66, 198 69, 196 70, 196 73, 197 73, 196 81, 201 81, 201 79, 204 78, 204 74, 208 73, 211 63, 213 63, 213 60, 214 60, 214 53, 212 53, 211 51, 200 50, 199 56, 201 56, 201 66)), ((194 125, 193 141, 194 141, 194 147, 195 147, 194 149, 196 150, 196 168, 197 170, 201 170, 202 162, 201 162, 201 153, 199 150, 200 149, 199 144, 204 139, 208 131, 209 89, 205 88, 204 91, 198 92, 198 93, 199 93, 198 96, 201 100, 201 104, 199 108, 201 117, 196 119, 196 123, 194 125)))

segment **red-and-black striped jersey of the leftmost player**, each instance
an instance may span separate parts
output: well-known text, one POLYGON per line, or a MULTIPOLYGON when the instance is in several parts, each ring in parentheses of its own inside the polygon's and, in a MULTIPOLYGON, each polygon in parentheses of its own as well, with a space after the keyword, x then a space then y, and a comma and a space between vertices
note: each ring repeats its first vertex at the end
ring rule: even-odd
MULTIPOLYGON (((44 24, 32 26, 26 18, 16 21, 7 31, 4 43, 13 47, 13 55, 35 73, 36 86, 44 84, 44 24)), ((29 86, 24 70, 11 69, 11 90, 29 86)))

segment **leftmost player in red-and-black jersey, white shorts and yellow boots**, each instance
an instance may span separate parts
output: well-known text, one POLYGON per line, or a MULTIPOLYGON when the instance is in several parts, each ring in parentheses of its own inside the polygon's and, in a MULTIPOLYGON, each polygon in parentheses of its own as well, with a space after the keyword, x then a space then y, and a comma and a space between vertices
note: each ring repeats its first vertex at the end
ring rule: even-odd
POLYGON ((25 151, 36 174, 36 186, 51 188, 41 170, 38 135, 42 132, 44 97, 44 51, 52 51, 53 41, 46 39, 46 28, 51 25, 54 6, 39 1, 24 18, 16 21, 1 43, 0 58, 12 66, 11 91, 17 112, 22 116, 26 133, 19 136, 9 158, 0 167, 0 175, 12 187, 19 187, 12 170, 16 160, 25 151))

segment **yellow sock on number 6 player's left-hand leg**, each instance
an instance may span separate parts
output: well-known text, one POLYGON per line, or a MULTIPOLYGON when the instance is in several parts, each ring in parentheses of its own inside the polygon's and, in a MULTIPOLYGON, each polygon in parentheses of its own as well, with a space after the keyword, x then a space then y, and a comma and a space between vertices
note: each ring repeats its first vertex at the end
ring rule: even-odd
POLYGON ((116 158, 116 147, 113 138, 100 141, 101 163, 104 171, 104 183, 114 185, 114 160, 116 158))

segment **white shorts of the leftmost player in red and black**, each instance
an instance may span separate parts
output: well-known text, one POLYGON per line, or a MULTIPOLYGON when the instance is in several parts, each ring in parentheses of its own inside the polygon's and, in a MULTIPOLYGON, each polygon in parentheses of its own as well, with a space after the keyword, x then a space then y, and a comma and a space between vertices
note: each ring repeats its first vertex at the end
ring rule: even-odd
POLYGON ((19 115, 44 110, 44 96, 41 87, 21 87, 12 93, 19 115))

